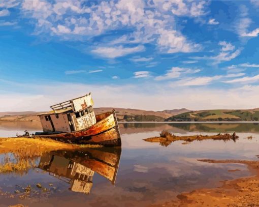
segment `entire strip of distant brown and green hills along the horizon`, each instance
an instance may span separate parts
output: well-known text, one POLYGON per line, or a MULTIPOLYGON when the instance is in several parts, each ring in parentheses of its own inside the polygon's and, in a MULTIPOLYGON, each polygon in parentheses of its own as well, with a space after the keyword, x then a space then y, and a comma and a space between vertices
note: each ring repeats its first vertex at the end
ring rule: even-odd
MULTIPOLYGON (((95 114, 113 108, 94 108, 95 114)), ((186 108, 164 111, 146 111, 114 108, 119 122, 197 122, 197 121, 259 121, 259 108, 247 110, 199 110, 186 108)), ((0 121, 40 121, 36 111, 0 112, 0 121)))

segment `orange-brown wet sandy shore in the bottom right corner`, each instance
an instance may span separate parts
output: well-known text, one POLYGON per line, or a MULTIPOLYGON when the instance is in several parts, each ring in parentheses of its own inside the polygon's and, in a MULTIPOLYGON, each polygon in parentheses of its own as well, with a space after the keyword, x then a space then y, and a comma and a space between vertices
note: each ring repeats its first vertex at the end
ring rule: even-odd
MULTIPOLYGON (((199 160, 209 163, 246 164, 255 176, 232 181, 213 189, 198 189, 181 193, 177 200, 152 206, 259 206, 259 161, 248 160, 199 160)), ((233 169, 230 173, 235 173, 233 169)))

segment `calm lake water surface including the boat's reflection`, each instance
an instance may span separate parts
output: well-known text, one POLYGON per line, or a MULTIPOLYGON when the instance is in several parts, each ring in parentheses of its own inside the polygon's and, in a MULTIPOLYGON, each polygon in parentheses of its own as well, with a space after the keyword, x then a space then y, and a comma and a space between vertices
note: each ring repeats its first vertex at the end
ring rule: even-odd
MULTIPOLYGON (((41 130, 36 123, 0 123, 0 137, 22 134, 25 129, 41 130)), ((257 123, 120 124, 120 131, 121 150, 56 151, 35 158, 35 168, 0 174, 0 206, 160 204, 184 191, 217 187, 223 180, 250 175, 242 164, 213 164, 197 159, 256 160, 259 155, 257 123), (177 135, 236 132, 240 138, 236 142, 206 140, 182 144, 183 141, 176 141, 167 147, 143 140, 158 136, 162 130, 177 135), (247 139, 248 136, 252 139, 247 139), (229 172, 230 169, 240 171, 229 172), (38 183, 42 188, 37 188, 38 183), (28 185, 30 193, 23 196, 28 185)), ((17 162, 12 155, 1 155, 2 163, 8 156, 17 162)))

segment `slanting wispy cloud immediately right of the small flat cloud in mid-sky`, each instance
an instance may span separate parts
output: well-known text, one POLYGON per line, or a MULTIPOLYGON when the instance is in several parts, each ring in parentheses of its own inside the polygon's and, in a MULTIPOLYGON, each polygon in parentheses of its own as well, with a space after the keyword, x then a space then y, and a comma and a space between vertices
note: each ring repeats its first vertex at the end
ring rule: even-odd
POLYGON ((155 80, 169 80, 173 78, 178 78, 183 73, 198 73, 200 71, 200 69, 192 70, 189 68, 172 67, 171 70, 168 70, 165 75, 155 77, 155 80))

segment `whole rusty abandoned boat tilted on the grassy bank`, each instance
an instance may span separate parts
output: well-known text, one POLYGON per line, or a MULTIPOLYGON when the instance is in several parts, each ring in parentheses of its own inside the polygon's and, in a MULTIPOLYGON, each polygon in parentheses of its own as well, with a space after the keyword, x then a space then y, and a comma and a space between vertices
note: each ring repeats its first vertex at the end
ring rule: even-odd
POLYGON ((40 113, 43 132, 27 137, 52 138, 77 144, 120 146, 120 132, 115 110, 95 115, 91 93, 50 106, 40 113))

